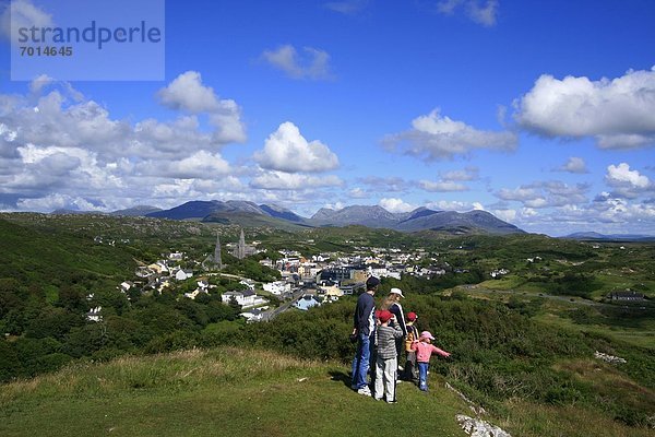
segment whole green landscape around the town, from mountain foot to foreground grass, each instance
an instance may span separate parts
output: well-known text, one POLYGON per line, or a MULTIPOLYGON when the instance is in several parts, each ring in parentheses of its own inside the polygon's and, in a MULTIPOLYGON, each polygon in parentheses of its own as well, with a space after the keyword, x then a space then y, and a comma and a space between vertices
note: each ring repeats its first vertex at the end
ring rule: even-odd
POLYGON ((397 429, 408 417, 421 417, 417 432, 426 435, 463 435, 455 414, 468 406, 446 382, 514 436, 641 437, 655 425, 654 245, 538 235, 438 238, 361 226, 246 229, 269 252, 243 261, 224 253, 225 271, 259 281, 271 272, 258 257, 282 248, 366 257, 376 247, 395 247, 422 253, 416 265, 448 269, 432 279, 383 279, 378 305, 400 286, 403 306, 420 315, 419 330, 431 331, 452 357, 432 362, 428 395, 403 383, 400 404, 380 405, 349 390, 355 296, 247 324, 237 318, 238 306, 222 303, 222 293, 242 286, 234 279, 207 276, 215 288, 195 300, 182 296, 195 277, 162 293, 117 290, 133 277, 138 261, 153 262, 166 250, 202 260, 217 229, 222 241, 234 241, 238 226, 2 217, 1 436, 293 436, 313 429, 361 436, 379 434, 378 424, 397 429), (501 268, 509 273, 491 279, 501 268), (606 298, 626 288, 650 298, 606 298), (102 322, 85 319, 91 306, 103 307, 102 322), (605 363, 596 351, 626 363, 605 363))

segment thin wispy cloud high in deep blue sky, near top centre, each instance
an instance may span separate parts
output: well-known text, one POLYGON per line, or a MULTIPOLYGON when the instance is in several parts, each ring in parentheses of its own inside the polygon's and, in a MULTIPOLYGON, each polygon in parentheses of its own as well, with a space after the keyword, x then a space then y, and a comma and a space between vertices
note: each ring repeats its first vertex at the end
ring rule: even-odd
POLYGON ((299 54, 294 46, 284 45, 275 50, 265 50, 262 59, 293 79, 331 79, 330 55, 317 48, 303 47, 299 54))

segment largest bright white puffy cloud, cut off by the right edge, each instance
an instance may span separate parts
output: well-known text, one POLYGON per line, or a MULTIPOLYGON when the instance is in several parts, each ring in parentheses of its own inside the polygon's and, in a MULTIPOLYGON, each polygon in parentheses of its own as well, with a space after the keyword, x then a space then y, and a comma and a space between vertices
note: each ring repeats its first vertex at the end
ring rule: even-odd
POLYGON ((655 68, 599 81, 544 74, 514 105, 522 128, 547 137, 592 137, 602 149, 655 144, 655 68))

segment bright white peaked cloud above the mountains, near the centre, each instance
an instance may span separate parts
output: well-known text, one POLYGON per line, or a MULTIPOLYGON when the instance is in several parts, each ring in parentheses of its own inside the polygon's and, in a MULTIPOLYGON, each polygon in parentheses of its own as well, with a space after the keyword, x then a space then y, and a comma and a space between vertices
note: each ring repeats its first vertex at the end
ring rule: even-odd
POLYGON ((287 173, 326 172, 338 167, 337 156, 322 142, 308 142, 296 125, 286 121, 266 139, 254 160, 266 169, 287 173))

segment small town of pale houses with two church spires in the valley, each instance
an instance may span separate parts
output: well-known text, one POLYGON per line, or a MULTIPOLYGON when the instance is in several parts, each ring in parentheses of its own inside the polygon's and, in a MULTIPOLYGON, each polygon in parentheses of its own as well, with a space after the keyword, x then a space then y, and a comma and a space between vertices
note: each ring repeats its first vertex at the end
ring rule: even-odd
MULTIPOLYGON (((107 240, 100 236, 96 236, 94 241, 110 246, 117 243, 115 239, 107 240)), ((129 239, 120 239, 120 243, 129 243, 129 239)), ((258 246, 259 241, 248 245, 241 229, 239 241, 227 244, 226 249, 234 257, 243 259, 265 252, 258 249, 258 246)), ((305 311, 314 306, 338 300, 344 295, 357 294, 364 288, 366 279, 371 275, 401 280, 407 274, 429 280, 453 270, 448 262, 439 262, 437 258, 439 253, 428 253, 420 248, 404 252, 397 248, 354 246, 352 253, 325 252, 309 258, 295 250, 282 249, 278 250, 278 259, 264 258, 259 261, 261 265, 277 271, 279 280, 260 283, 250 277, 222 273, 224 265, 221 251, 222 244, 217 235, 214 253, 203 260, 190 260, 181 251, 164 253, 162 259, 147 265, 140 265, 134 272, 135 279, 123 281, 118 288, 122 293, 131 290, 139 290, 141 293, 162 293, 165 288, 174 288, 182 282, 193 281, 194 290, 184 293, 183 297, 195 299, 199 294, 211 294, 216 288, 216 285, 212 284, 213 277, 228 277, 235 280, 240 286, 238 290, 223 293, 223 302, 236 303, 241 308, 240 316, 248 322, 255 322, 267 321, 287 309, 305 311), (429 267, 422 267, 426 260, 429 267), (182 261, 194 268, 180 267, 182 261), (271 296, 281 305, 273 307, 271 296)), ((465 270, 454 271, 465 272, 465 270)), ((507 269, 500 269, 491 272, 490 275, 497 277, 507 273, 509 273, 507 269)), ((92 308, 87 319, 100 321, 100 312, 102 307, 92 308)))

